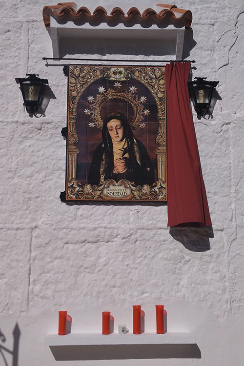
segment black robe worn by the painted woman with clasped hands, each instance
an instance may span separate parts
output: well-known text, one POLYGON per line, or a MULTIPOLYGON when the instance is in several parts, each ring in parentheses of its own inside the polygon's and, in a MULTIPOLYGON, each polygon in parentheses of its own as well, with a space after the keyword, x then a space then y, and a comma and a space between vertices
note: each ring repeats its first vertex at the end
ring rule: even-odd
MULTIPOLYGON (((154 169, 145 146, 139 140, 136 140, 136 142, 138 145, 140 164, 135 159, 132 159, 129 153, 129 158, 125 158, 127 171, 122 174, 116 174, 114 173, 113 162, 107 164, 107 166, 104 167, 104 181, 107 179, 114 179, 116 182, 119 182, 121 179, 126 179, 127 181, 134 182, 136 185, 151 185, 154 182, 154 169)), ((88 175, 89 184, 98 185, 101 183, 101 164, 103 162, 103 155, 104 144, 101 142, 93 154, 88 175)))

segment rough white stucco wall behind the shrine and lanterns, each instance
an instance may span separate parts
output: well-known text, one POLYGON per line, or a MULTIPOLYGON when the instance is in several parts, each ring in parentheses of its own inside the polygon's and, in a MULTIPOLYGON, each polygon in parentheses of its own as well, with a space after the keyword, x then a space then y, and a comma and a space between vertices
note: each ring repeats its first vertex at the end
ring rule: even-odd
MULTIPOLYGON (((42 61, 52 52, 41 12, 52 4, 1 1, 0 330, 6 341, 0 346, 12 349, 17 322, 18 366, 243 365, 243 1, 176 3, 193 13, 193 77, 219 80, 222 99, 213 119, 199 121, 193 113, 214 231, 203 252, 181 243, 201 250, 207 237, 196 230, 180 231, 179 241, 169 234, 166 205, 61 203, 67 80, 62 67, 42 61), (55 95, 45 117, 30 118, 22 106, 14 78, 27 72, 48 79, 55 95), (146 330, 154 331, 156 303, 168 312, 168 331, 196 335, 200 359, 61 362, 42 345, 44 335, 58 329, 58 310, 73 317, 73 332, 100 332, 102 310, 111 310, 116 330, 118 323, 132 330, 132 305, 141 304, 146 330)), ((152 0, 78 5, 157 9, 152 0)))

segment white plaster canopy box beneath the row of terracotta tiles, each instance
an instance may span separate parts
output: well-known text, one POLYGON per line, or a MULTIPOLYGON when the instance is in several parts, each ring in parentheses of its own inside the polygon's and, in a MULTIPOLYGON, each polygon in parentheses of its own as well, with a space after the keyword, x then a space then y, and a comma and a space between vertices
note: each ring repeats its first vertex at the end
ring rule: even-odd
MULTIPOLYGON (((137 49, 140 46, 141 51, 142 44, 138 40, 148 40, 155 43, 157 52, 160 49, 164 57, 169 58, 169 60, 172 58, 181 60, 183 57, 185 26, 184 24, 181 24, 180 27, 179 25, 167 24, 166 19, 164 27, 159 27, 156 24, 151 24, 150 27, 142 27, 140 23, 129 27, 126 24, 118 23, 111 27, 106 21, 96 24, 96 26, 89 22, 78 25, 72 21, 60 22, 50 17, 49 34, 52 40, 53 57, 62 57, 63 50, 65 50, 65 54, 73 54, 74 49, 76 49, 75 53, 80 54, 81 50, 77 42, 82 43, 84 41, 87 42, 87 40, 88 43, 89 40, 103 40, 108 49, 110 44, 115 44, 114 41, 119 44, 118 40, 122 40, 122 44, 128 41, 129 44, 134 45, 137 49), (75 48, 73 44, 76 44, 75 48)), ((89 51, 87 52, 89 53, 89 51)))

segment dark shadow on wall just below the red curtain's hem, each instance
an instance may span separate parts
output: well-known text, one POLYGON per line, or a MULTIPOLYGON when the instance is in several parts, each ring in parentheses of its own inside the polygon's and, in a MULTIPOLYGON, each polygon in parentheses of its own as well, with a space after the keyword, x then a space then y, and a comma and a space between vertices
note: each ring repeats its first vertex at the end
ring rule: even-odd
POLYGON ((205 252, 210 250, 209 238, 213 238, 212 226, 182 227, 171 226, 170 235, 192 252, 205 252))

